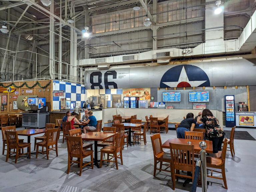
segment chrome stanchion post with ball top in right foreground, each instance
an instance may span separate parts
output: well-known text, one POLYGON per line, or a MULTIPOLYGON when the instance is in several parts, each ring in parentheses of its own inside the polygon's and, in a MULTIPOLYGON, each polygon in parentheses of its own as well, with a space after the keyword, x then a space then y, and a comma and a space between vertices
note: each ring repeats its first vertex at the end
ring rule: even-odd
POLYGON ((201 148, 200 156, 201 156, 201 170, 202 170, 202 192, 207 192, 207 178, 206 178, 206 152, 205 148, 207 147, 206 142, 201 141, 199 143, 199 147, 201 148))

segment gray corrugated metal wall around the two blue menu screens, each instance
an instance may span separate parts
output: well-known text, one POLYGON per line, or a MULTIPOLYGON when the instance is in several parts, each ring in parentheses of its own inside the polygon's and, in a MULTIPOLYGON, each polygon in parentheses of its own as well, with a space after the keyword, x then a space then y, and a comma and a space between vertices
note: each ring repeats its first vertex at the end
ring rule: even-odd
MULTIPOLYGON (((224 96, 235 95, 235 107, 237 110, 238 102, 247 102, 247 89, 186 89, 186 90, 159 90, 157 91, 157 102, 163 101, 163 92, 181 92, 181 102, 165 102, 165 105, 173 105, 174 109, 193 109, 193 103, 189 102, 189 92, 209 91, 209 102, 206 108, 210 110, 225 111, 224 96)), ((203 102, 202 102, 203 103, 203 102)), ((164 107, 158 107, 164 108, 164 107)))

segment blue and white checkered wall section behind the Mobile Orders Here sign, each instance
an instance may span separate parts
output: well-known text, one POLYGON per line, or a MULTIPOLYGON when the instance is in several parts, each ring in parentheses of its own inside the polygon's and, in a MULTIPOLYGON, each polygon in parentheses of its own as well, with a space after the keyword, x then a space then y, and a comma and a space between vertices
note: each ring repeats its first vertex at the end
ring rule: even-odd
MULTIPOLYGON (((81 84, 53 80, 53 90, 64 90, 64 97, 70 98, 76 107, 83 106, 87 100, 85 87, 81 84)), ((53 97, 53 110, 60 109, 60 98, 53 97)))

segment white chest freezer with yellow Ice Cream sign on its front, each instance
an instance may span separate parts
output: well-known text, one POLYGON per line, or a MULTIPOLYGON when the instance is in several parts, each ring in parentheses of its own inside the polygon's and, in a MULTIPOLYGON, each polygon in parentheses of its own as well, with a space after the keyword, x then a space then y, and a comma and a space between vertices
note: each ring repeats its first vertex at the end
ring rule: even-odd
POLYGON ((236 127, 254 127, 256 121, 256 112, 237 111, 236 112, 236 127))

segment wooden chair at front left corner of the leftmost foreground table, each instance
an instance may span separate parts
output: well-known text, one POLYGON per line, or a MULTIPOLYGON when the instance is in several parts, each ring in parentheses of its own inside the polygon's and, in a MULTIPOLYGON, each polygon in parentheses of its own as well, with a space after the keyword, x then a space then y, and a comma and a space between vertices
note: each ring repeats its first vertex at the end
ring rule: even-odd
POLYGON ((17 131, 5 131, 5 133, 6 133, 6 140, 7 140, 7 155, 6 155, 5 162, 8 161, 8 158, 11 155, 11 153, 12 154, 15 153, 15 163, 17 163, 17 159, 21 155, 29 154, 29 158, 31 158, 31 153, 30 153, 31 143, 19 142, 17 131), (21 153, 21 149, 25 147, 28 147, 28 152, 21 153), (12 152, 11 149, 16 149, 16 152, 12 152))

